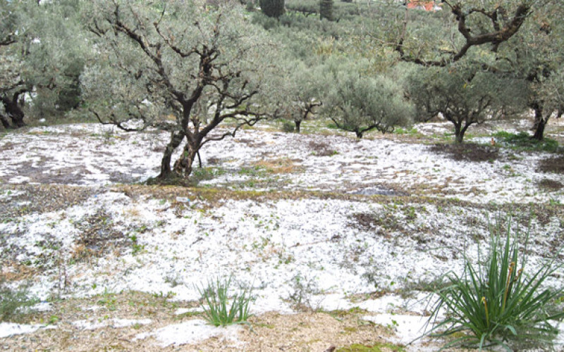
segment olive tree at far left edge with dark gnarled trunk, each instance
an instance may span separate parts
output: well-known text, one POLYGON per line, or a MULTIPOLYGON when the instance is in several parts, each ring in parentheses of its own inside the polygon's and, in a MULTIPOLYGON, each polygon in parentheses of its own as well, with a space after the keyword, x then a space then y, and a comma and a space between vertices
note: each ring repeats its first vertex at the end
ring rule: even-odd
POLYGON ((87 48, 78 20, 80 3, 27 0, 0 7, 0 121, 5 128, 25 125, 26 93, 33 93, 37 113, 68 105, 63 102, 71 96, 71 105, 78 104, 78 75, 87 48))

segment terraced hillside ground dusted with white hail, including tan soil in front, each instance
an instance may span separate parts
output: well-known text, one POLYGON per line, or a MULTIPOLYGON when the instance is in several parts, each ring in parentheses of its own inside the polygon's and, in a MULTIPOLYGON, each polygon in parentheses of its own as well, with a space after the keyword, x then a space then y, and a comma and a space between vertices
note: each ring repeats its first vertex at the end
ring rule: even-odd
MULTIPOLYGON (((2 323, 0 346, 435 350, 443 341, 407 345, 426 298, 439 275, 462 270, 463 253, 477 258, 489 225, 511 214, 530 229, 532 269, 563 244, 562 151, 491 146, 496 131, 529 122, 482 126, 462 147, 441 123, 362 140, 319 121, 303 134, 264 124, 206 146, 188 188, 142 183, 157 175, 164 134, 6 133, 1 273, 44 303, 2 323), (228 275, 253 288, 255 315, 204 325, 198 287, 228 275)), ((562 143, 560 125, 548 137, 562 143)))

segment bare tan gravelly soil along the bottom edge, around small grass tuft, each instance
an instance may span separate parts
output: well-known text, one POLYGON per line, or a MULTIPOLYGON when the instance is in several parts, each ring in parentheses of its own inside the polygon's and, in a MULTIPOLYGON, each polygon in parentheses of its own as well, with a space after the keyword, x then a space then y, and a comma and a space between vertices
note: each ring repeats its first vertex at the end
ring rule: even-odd
MULTIPOLYGON (((133 341, 137 334, 192 319, 198 314, 175 315, 178 306, 194 303, 171 302, 166 296, 140 292, 106 293, 92 298, 52 303, 53 310, 27 315, 30 323, 51 322, 54 329, 0 339, 10 351, 326 351, 353 344, 382 346, 381 351, 398 351, 401 345, 385 341, 393 331, 362 320, 363 310, 297 314, 264 313, 250 319, 238 333, 238 341, 213 337, 195 345, 161 347, 153 338, 133 341), (112 327, 114 319, 147 320, 130 327, 112 327), (76 322, 108 326, 85 328, 76 322)), ((189 333, 189 332, 188 332, 189 333)), ((346 351, 346 350, 345 350, 346 351)))

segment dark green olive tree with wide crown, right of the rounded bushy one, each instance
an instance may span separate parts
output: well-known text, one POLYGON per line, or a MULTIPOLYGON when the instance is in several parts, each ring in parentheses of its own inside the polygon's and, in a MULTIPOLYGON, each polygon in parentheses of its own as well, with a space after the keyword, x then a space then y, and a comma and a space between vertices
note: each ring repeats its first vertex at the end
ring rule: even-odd
POLYGON ((527 84, 496 76, 480 68, 419 68, 407 79, 417 120, 441 115, 454 125, 455 142, 462 143, 468 127, 502 118, 526 100, 527 84))

